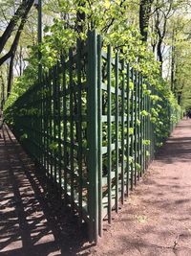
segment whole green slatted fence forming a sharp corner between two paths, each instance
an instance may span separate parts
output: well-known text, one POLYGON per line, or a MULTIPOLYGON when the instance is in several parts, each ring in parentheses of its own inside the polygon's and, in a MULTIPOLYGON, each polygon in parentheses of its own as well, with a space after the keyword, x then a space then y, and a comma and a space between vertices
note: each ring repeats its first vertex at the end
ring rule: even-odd
MULTIPOLYGON (((70 204, 89 226, 90 240, 102 233, 102 222, 137 185, 154 158, 159 126, 169 132, 167 100, 109 45, 102 49, 96 32, 77 42, 49 72, 7 110, 12 128, 35 161, 53 181, 60 200, 70 204), (158 95, 152 100, 152 95, 158 95)), ((8 119, 9 119, 8 118, 8 119)))

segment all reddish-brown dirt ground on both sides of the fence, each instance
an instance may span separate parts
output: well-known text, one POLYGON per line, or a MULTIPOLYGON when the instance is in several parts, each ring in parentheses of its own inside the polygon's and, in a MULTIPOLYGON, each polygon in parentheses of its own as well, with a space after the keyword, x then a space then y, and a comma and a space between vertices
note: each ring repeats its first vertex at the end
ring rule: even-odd
POLYGON ((0 139, 0 255, 191 256, 190 164, 191 121, 182 120, 92 246, 5 132, 0 139))

